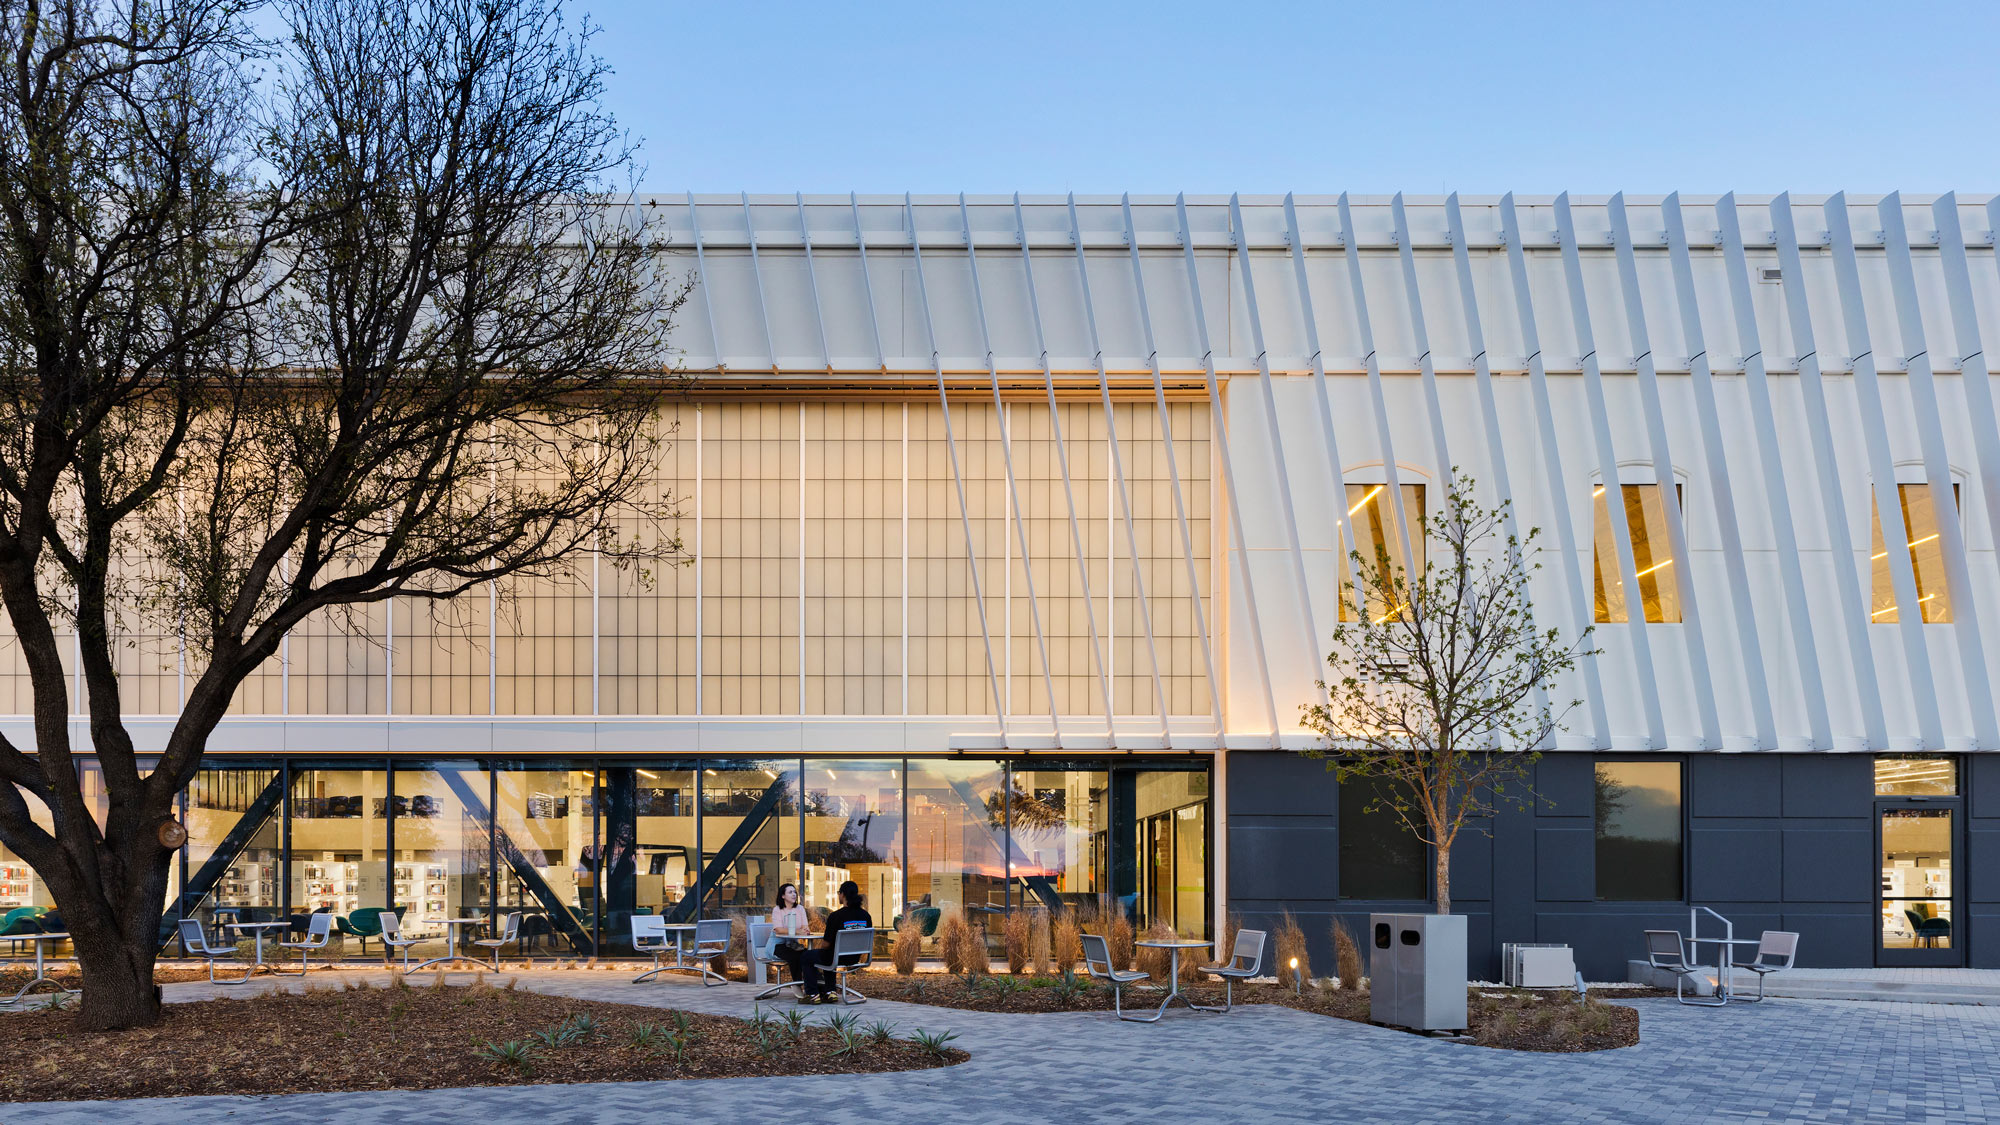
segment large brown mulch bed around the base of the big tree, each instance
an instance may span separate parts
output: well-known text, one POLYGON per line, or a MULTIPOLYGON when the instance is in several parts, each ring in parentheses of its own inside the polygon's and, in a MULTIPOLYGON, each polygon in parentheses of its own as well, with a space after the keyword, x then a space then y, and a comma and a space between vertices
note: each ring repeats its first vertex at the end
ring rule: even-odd
POLYGON ((912 1027, 878 1039, 866 1019, 854 1029, 860 1045, 840 1053, 826 1015, 808 1011, 800 1015, 810 1023, 794 1031, 768 1015, 676 1013, 508 983, 328 985, 302 995, 170 1003, 158 1025, 136 1031, 86 1031, 74 1011, 4 1017, 0 1103, 850 1075, 968 1059, 956 1047, 930 1051, 906 1039, 912 1027))

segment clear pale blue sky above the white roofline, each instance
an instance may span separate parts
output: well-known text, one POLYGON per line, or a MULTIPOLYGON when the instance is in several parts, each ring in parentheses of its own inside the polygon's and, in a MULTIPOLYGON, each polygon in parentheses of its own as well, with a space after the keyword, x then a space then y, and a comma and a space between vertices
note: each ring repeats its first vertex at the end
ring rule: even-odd
POLYGON ((2000 4, 576 0, 676 192, 2000 190, 2000 4))

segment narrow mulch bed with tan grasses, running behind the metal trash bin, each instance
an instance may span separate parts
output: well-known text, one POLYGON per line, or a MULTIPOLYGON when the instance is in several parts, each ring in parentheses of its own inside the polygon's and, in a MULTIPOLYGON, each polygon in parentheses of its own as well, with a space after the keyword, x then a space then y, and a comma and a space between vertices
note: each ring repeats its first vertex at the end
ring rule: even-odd
MULTIPOLYGON (((856 973, 850 977, 854 989, 868 997, 890 1001, 910 1001, 968 1011, 1008 1011, 1008 1013, 1054 1013, 1054 1011, 1110 1011, 1112 991, 1088 979, 1078 979, 1074 987, 1064 987, 1056 977, 980 977, 968 985, 964 977, 944 973, 920 973, 912 977, 892 977, 886 973, 856 973)), ((1148 991, 1146 985, 1126 985, 1126 1011, 1158 1007, 1164 999, 1164 985, 1148 991)), ((1184 983, 1180 991, 1200 1005, 1222 1005, 1222 985, 1184 983)), ((1620 989, 1616 997, 1658 995, 1650 989, 1620 989)), ((1370 1023, 1368 993, 1344 993, 1336 989, 1308 987, 1302 995, 1278 985, 1236 985, 1236 1003, 1272 1003, 1334 1019, 1370 1023)), ((1180 1011, 1180 1005, 1174 1005, 1180 1011)), ((1608 1051, 1612 1047, 1632 1047, 1638 1043, 1638 1011, 1600 1003, 1592 995, 1590 1005, 1578 1005, 1574 993, 1532 993, 1524 989, 1472 989, 1468 997, 1470 1037, 1480 1047, 1500 1047, 1508 1051, 1608 1051)))

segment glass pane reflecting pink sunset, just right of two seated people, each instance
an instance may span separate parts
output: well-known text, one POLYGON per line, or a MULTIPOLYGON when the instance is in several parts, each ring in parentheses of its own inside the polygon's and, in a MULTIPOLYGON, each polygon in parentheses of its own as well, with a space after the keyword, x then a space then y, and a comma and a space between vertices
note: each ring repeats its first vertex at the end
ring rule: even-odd
POLYGON ((972 921, 1006 909, 1000 775, 992 761, 910 761, 910 907, 962 907, 972 921))

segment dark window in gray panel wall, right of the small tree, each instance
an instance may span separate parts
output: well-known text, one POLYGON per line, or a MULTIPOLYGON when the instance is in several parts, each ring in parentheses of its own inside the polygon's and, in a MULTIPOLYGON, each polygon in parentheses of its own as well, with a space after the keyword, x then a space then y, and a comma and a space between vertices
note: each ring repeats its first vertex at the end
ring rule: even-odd
POLYGON ((1598 901, 1676 903, 1680 763, 1598 763, 1598 901))

